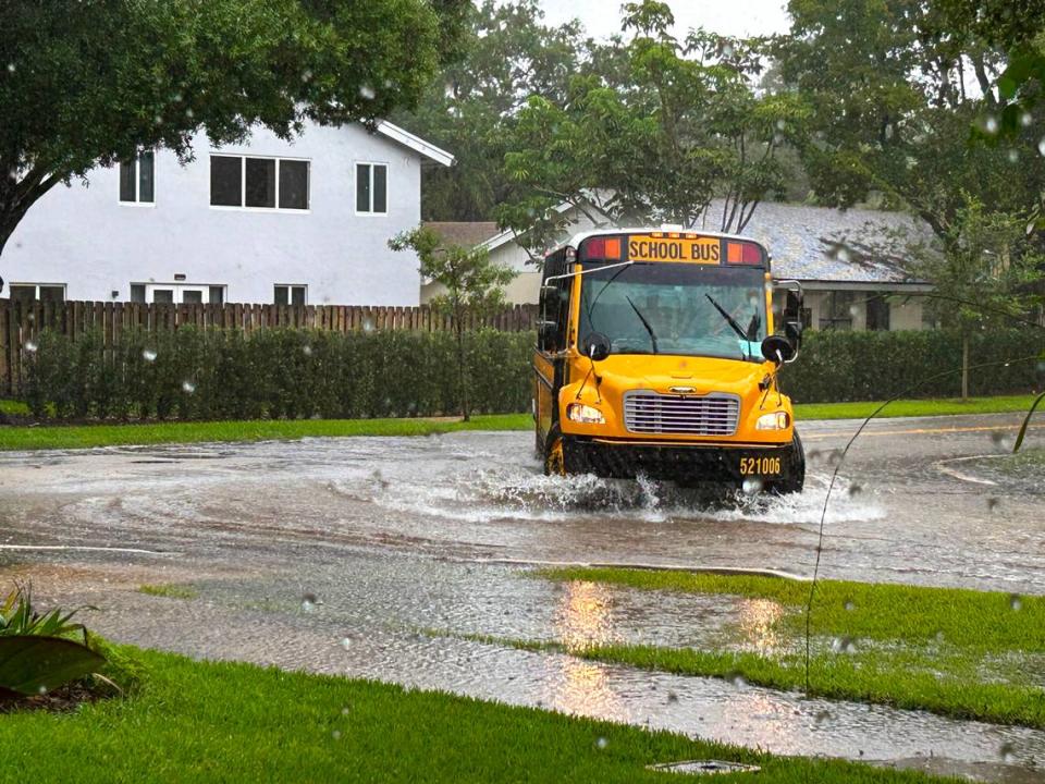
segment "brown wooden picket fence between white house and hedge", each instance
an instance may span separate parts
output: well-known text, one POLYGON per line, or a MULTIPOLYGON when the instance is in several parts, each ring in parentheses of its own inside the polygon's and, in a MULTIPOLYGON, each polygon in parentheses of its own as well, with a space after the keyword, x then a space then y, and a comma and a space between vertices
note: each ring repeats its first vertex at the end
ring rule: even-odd
MULTIPOLYGON (((536 305, 515 305, 492 318, 470 319, 467 329, 491 327, 504 332, 536 329, 536 305)), ((429 306, 367 307, 360 305, 146 305, 119 302, 17 302, 0 299, 0 394, 14 394, 22 379, 26 344, 45 330, 75 338, 97 330, 106 345, 115 345, 124 330, 174 331, 237 329, 249 333, 273 327, 332 332, 410 330, 439 332, 451 319, 429 306)))

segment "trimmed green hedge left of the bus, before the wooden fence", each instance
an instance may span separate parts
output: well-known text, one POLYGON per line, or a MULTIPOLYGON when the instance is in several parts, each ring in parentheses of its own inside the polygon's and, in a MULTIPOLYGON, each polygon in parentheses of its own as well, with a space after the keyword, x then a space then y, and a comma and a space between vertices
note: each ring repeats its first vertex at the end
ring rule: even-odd
MULTIPOLYGON (((471 408, 529 411, 531 333, 466 335, 471 408)), ((254 419, 437 416, 458 412, 445 332, 237 330, 40 335, 25 399, 37 417, 254 419)))

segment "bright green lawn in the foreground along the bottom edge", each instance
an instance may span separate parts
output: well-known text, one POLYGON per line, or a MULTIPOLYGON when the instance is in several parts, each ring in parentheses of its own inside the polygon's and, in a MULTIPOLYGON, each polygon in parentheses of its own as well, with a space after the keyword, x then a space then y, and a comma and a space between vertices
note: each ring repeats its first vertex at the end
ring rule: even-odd
POLYGON ((0 781, 671 782, 646 765, 708 758, 762 765, 729 776, 738 783, 934 781, 373 682, 128 652, 144 665, 130 697, 0 716, 0 781))

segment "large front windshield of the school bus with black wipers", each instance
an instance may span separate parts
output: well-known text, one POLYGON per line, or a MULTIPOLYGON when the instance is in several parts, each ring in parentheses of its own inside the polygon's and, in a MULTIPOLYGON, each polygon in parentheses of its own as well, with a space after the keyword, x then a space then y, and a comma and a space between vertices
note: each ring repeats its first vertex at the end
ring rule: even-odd
POLYGON ((585 271, 580 278, 581 340, 602 332, 614 354, 762 362, 762 269, 654 262, 585 271))

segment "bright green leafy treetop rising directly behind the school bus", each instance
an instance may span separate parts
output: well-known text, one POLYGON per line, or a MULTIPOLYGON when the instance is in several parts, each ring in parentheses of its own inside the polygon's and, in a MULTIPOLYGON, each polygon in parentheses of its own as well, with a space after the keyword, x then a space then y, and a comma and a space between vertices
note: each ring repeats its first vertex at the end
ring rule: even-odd
POLYGON ((629 39, 602 47, 562 100, 531 97, 508 128, 514 188, 497 217, 541 248, 570 219, 709 224, 742 231, 758 204, 782 194, 790 170, 780 148, 801 139, 804 107, 757 90, 763 41, 691 30, 669 34, 667 4, 624 7, 629 39), (721 215, 708 216, 722 198, 721 215))

